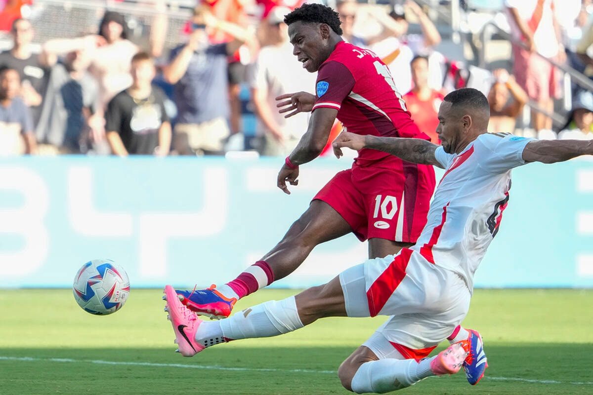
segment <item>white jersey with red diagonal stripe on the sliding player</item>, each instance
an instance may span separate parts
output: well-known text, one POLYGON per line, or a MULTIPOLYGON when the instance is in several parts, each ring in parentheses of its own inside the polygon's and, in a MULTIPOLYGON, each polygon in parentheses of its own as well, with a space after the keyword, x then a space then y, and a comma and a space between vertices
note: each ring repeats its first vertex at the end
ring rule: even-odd
POLYGON ((474 273, 498 232, 509 201, 511 169, 525 164, 533 139, 484 133, 459 154, 435 151, 445 168, 414 251, 460 275, 473 291, 474 273))

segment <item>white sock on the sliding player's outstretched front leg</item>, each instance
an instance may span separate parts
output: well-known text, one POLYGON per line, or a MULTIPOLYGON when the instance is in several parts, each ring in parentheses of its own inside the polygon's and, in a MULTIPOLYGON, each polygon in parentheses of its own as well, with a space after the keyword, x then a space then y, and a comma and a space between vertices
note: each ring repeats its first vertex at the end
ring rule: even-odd
POLYGON ((219 321, 219 324, 223 336, 232 340, 269 338, 304 326, 294 296, 258 304, 219 321))

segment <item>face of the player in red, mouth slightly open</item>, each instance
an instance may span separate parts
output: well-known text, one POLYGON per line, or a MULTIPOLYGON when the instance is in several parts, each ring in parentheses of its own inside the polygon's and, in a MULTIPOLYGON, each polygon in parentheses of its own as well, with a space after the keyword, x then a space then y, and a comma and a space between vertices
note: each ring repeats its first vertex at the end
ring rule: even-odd
POLYGON ((333 50, 329 47, 329 28, 325 24, 301 21, 291 23, 288 27, 292 54, 302 63, 302 68, 310 73, 316 72, 333 50))

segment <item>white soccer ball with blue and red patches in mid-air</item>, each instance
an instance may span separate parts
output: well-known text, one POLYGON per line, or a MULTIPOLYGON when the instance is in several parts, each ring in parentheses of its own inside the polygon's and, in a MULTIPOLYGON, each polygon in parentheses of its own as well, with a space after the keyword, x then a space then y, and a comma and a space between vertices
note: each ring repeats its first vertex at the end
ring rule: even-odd
POLYGON ((130 280, 122 266, 111 259, 93 259, 76 273, 72 292, 83 310, 104 316, 115 313, 126 303, 130 280))

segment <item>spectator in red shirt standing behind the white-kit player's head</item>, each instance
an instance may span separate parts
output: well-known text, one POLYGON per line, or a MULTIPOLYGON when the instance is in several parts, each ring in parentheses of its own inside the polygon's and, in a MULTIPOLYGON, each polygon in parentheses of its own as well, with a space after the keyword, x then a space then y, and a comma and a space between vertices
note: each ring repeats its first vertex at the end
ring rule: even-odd
POLYGON ((428 57, 417 55, 410 63, 414 88, 404 95, 406 107, 420 130, 440 144, 436 127, 439 124, 438 111, 444 96, 428 85, 428 57))

